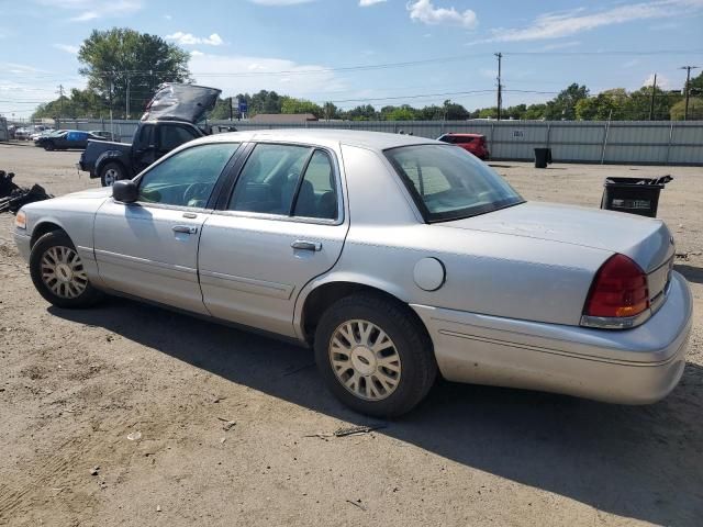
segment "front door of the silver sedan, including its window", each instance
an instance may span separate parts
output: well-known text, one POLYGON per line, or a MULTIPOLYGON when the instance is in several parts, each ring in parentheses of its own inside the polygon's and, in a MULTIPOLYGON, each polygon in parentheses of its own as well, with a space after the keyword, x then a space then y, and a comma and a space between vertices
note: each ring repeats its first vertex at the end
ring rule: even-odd
POLYGON ((99 209, 94 250, 107 287, 208 313, 198 283, 198 242, 237 147, 214 143, 179 150, 140 177, 135 203, 108 200, 99 209))

